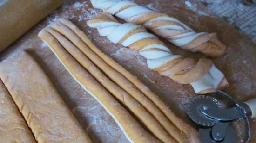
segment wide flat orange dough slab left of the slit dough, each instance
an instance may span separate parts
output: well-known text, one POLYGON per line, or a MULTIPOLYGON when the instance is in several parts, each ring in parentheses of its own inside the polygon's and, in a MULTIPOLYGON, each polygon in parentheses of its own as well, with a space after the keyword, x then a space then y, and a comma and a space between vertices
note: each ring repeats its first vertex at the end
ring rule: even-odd
POLYGON ((93 143, 38 63, 26 52, 2 61, 0 78, 38 143, 93 143))

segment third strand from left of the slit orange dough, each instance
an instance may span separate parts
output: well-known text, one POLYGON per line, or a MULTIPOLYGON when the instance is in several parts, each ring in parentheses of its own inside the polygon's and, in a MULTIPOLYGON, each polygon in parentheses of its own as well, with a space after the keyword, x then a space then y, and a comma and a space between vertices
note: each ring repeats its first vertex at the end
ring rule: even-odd
MULTIPOLYGON (((67 20, 60 19, 60 21, 62 23, 64 23, 67 20)), ((56 24, 51 25, 51 27, 53 27, 55 30, 58 30, 59 32, 61 32, 61 34, 65 35, 70 41, 72 41, 72 43, 74 43, 81 51, 83 51, 83 53, 86 56, 88 56, 88 58, 90 58, 90 60, 92 62, 94 62, 95 65, 97 65, 99 68, 101 68, 101 70, 106 75, 108 75, 108 77, 112 81, 114 81, 121 88, 123 88, 134 99, 136 99, 141 105, 143 105, 145 108, 147 108, 148 112, 150 112, 160 122, 160 124, 163 126, 164 130, 167 130, 171 136, 173 136, 176 140, 178 140, 181 143, 184 142, 183 140, 187 140, 186 137, 184 137, 184 133, 182 131, 178 130, 178 128, 176 128, 174 126, 174 124, 172 124, 168 120, 168 118, 161 112, 161 110, 158 109, 158 107, 155 106, 155 104, 150 99, 148 99, 148 97, 146 97, 143 93, 141 93, 141 91, 139 89, 137 89, 133 83, 128 81, 127 78, 123 77, 115 69, 111 68, 107 63, 104 62, 104 60, 102 60, 92 50, 90 50, 88 48, 88 46, 83 41, 81 41, 81 38, 79 36, 77 36, 73 31, 71 31, 69 28, 65 27, 60 22, 57 22, 56 24)), ((94 72, 92 72, 91 74, 93 75, 94 72)), ((103 84, 107 84, 107 83, 104 82, 103 84)), ((108 86, 108 84, 107 84, 107 86, 108 86)), ((139 112, 137 115, 138 115, 138 118, 141 118, 140 117, 141 114, 139 112)), ((144 118, 144 117, 142 117, 142 118, 144 118)), ((145 120, 142 120, 142 122, 145 122, 145 120)), ((154 123, 154 121, 151 121, 151 122, 154 123)), ((148 124, 150 125, 150 123, 148 123, 148 124)), ((158 124, 158 122, 155 122, 155 124, 158 124)), ((146 124, 146 126, 148 126, 148 125, 146 124)), ((159 132, 159 131, 153 131, 153 130, 155 130, 153 127, 149 128, 149 130, 153 133, 159 132)), ((158 137, 159 135, 155 134, 155 136, 158 137)), ((168 139, 168 141, 171 141, 171 139, 168 139)))

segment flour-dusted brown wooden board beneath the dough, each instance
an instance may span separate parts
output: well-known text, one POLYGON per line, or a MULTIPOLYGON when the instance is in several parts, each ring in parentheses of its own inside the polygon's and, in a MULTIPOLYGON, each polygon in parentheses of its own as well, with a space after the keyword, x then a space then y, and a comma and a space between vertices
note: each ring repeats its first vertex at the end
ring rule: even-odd
MULTIPOLYGON (((197 0, 134 1, 156 11, 168 13, 182 20, 195 31, 216 32, 220 41, 228 47, 223 56, 213 59, 216 67, 222 70, 230 83, 230 87, 224 91, 240 103, 256 97, 256 44, 249 38, 240 34, 223 19, 217 18, 216 14, 209 12, 197 0), (189 6, 192 6, 192 8, 189 6)), ((146 60, 139 56, 137 52, 129 50, 120 44, 113 44, 106 37, 101 37, 96 29, 89 28, 86 25, 86 20, 91 19, 97 13, 101 13, 101 10, 94 9, 89 0, 67 1, 3 51, 0 55, 0 60, 7 58, 17 50, 27 50, 40 63, 40 66, 50 77, 67 106, 79 120, 84 130, 88 132, 94 143, 128 143, 114 119, 76 83, 48 48, 47 44, 44 44, 37 37, 38 32, 54 20, 60 17, 71 19, 98 48, 137 76, 163 99, 177 115, 189 124, 193 124, 182 110, 182 103, 195 95, 192 87, 176 83, 166 76, 149 70, 146 60)), ((175 54, 195 59, 207 58, 200 53, 191 53, 176 48, 166 40, 163 41, 175 54)), ((250 123, 252 134, 256 134, 256 119, 251 119, 250 123)), ((256 136, 253 136, 250 143, 255 142, 256 136)))

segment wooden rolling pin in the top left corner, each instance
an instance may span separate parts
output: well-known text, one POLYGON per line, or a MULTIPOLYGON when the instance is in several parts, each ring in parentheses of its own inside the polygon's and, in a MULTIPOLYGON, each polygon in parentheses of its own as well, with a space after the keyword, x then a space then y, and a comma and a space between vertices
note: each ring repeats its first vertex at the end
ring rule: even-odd
POLYGON ((65 0, 0 0, 0 52, 65 0))

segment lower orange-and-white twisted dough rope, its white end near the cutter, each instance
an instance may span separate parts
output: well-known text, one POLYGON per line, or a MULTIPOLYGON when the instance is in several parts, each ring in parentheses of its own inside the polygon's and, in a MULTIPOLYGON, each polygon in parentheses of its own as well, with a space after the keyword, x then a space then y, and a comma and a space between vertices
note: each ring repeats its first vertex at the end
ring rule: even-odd
POLYGON ((194 59, 173 55, 157 37, 141 25, 121 24, 110 13, 101 13, 89 20, 90 27, 98 28, 101 36, 113 43, 129 46, 147 59, 148 68, 166 75, 182 84, 190 83, 196 93, 215 92, 229 84, 211 60, 194 59))

